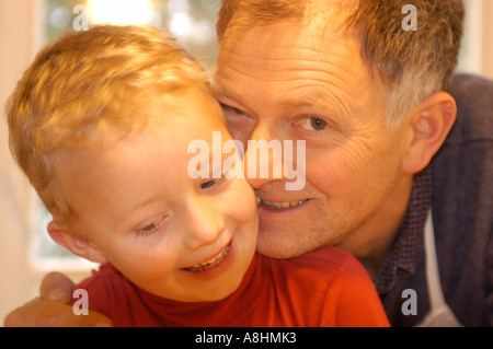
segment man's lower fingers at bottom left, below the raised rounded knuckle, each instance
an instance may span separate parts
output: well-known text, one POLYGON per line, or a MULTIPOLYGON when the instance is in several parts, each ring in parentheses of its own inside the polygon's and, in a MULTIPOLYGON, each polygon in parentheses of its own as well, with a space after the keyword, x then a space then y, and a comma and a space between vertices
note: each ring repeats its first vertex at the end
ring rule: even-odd
POLYGON ((35 299, 5 317, 5 327, 108 327, 112 322, 102 314, 74 315, 72 306, 35 299))

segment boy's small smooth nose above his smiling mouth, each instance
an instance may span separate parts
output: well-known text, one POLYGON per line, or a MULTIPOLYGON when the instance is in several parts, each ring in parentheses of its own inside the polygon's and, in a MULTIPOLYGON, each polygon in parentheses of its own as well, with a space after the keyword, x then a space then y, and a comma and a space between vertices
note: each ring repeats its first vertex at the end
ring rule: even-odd
POLYGON ((217 210, 217 202, 196 199, 187 206, 186 244, 195 251, 205 245, 214 244, 225 230, 223 216, 217 210))

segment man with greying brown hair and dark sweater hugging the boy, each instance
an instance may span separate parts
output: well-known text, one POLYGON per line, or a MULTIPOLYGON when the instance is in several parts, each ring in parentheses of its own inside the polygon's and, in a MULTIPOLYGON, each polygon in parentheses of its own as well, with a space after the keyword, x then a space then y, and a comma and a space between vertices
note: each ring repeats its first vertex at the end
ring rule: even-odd
MULTIPOLYGON (((301 190, 285 190, 286 177, 249 178, 260 253, 335 245, 366 266, 392 325, 491 325, 492 120, 467 98, 458 114, 444 92, 462 4, 413 1, 414 31, 408 2, 223 1, 216 93, 245 146, 306 141, 301 190)), ((475 82, 456 92, 473 95, 475 82)), ((43 324, 38 314, 62 307, 50 304, 35 301, 8 322, 43 324)), ((45 318, 62 325, 73 321, 67 313, 45 318)))

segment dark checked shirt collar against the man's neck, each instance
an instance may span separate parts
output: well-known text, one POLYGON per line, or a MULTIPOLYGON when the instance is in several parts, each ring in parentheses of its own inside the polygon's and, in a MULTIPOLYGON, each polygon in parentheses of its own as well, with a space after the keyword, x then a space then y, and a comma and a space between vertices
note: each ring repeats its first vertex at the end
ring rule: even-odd
POLYGON ((432 170, 428 166, 414 176, 408 210, 395 245, 377 275, 375 283, 380 295, 390 292, 399 278, 413 276, 416 270, 416 255, 432 205, 432 170))

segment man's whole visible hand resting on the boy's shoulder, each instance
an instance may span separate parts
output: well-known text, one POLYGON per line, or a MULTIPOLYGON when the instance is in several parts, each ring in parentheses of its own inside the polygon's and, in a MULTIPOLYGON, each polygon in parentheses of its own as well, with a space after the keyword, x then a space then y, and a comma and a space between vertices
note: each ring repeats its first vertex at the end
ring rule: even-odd
POLYGON ((96 312, 74 315, 70 305, 73 282, 60 272, 48 274, 36 298, 11 312, 5 327, 107 327, 112 322, 96 312))

